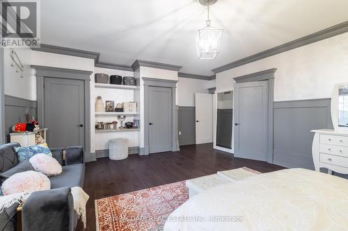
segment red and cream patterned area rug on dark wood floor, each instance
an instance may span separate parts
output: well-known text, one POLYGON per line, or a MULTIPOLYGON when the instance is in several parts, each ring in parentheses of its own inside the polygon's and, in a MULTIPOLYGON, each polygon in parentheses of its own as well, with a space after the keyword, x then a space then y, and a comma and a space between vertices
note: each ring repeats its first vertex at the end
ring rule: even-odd
POLYGON ((180 181, 95 200, 97 230, 163 230, 167 216, 188 199, 180 181))

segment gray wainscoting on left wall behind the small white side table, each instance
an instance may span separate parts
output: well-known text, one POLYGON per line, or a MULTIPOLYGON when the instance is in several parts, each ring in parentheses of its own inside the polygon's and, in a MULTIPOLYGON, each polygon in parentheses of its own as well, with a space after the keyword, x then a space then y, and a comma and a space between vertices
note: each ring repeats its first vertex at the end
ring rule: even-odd
POLYGON ((36 101, 5 95, 5 135, 7 142, 10 142, 10 132, 15 123, 24 123, 25 114, 37 119, 36 101))

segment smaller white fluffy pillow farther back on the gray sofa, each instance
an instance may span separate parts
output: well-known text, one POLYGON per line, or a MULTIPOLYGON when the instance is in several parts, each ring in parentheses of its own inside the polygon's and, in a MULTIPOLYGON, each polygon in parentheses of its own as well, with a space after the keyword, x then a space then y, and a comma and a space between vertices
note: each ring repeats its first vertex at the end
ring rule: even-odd
POLYGON ((59 162, 49 155, 38 153, 29 159, 35 171, 45 174, 46 176, 56 176, 61 174, 62 166, 59 162))

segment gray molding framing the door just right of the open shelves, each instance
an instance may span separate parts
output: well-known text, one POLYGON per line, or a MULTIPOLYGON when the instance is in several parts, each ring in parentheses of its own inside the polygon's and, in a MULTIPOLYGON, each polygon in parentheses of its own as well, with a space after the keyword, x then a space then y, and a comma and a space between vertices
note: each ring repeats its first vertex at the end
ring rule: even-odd
POLYGON ((179 141, 177 137, 177 110, 175 105, 176 99, 176 84, 177 80, 165 80, 159 78, 145 78, 143 77, 144 85, 144 155, 149 155, 149 87, 168 87, 172 91, 172 151, 180 151, 179 141))

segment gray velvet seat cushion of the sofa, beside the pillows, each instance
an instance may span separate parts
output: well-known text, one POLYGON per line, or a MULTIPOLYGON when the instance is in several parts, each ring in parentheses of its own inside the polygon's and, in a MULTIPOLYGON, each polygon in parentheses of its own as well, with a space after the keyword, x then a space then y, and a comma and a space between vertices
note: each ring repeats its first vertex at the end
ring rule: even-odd
POLYGON ((51 180, 51 189, 77 186, 82 187, 84 185, 84 173, 84 164, 63 166, 61 174, 49 178, 49 180, 51 180))

